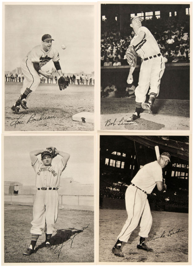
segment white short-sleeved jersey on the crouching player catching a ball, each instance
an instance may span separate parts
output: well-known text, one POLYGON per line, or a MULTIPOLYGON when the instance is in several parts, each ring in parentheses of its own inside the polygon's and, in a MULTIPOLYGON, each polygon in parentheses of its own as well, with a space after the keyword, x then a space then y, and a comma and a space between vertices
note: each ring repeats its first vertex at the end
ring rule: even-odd
POLYGON ((33 63, 38 62, 39 66, 42 67, 47 64, 51 59, 53 62, 59 61, 59 53, 54 47, 51 47, 47 52, 44 51, 42 45, 35 46, 27 54, 27 58, 33 63))

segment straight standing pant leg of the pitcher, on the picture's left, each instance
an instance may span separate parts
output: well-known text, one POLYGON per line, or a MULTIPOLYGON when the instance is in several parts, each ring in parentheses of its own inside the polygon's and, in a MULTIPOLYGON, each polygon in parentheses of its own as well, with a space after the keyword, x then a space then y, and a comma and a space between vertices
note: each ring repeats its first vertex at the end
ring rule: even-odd
POLYGON ((135 88, 135 101, 138 103, 145 102, 146 94, 150 86, 150 74, 151 74, 151 64, 149 60, 142 61, 138 86, 135 88))

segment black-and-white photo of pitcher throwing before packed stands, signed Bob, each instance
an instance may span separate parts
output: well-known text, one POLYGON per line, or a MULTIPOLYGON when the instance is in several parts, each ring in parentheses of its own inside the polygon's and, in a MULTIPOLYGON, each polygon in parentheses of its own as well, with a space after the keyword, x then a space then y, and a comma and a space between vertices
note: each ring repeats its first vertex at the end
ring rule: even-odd
POLYGON ((189 131, 192 3, 100 10, 101 130, 189 131))

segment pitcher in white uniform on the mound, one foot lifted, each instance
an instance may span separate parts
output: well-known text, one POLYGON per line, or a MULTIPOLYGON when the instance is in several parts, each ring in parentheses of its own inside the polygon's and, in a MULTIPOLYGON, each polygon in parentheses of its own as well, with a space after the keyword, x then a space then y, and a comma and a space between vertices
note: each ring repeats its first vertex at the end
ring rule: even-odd
POLYGON ((135 112, 126 120, 135 121, 140 118, 141 108, 147 109, 150 113, 152 112, 151 109, 154 100, 159 95, 160 79, 164 73, 165 62, 163 61, 163 56, 160 53, 154 36, 146 27, 142 26, 142 18, 138 16, 131 18, 130 26, 134 29, 135 36, 126 51, 126 58, 130 64, 127 83, 133 81, 133 72, 137 64, 137 54, 142 58, 138 86, 135 89, 135 112), (134 60, 132 61, 131 50, 134 52, 134 60), (145 102, 149 87, 149 100, 145 102))

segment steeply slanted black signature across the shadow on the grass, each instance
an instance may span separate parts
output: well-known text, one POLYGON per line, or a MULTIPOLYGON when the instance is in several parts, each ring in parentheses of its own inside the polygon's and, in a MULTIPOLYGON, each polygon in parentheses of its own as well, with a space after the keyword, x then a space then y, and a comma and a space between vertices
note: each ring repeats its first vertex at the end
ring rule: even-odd
POLYGON ((81 230, 76 230, 73 227, 73 228, 71 228, 71 231, 70 231, 70 233, 68 234, 67 237, 65 237, 64 239, 61 237, 59 244, 55 244, 55 241, 54 241, 54 244, 52 246, 52 250, 55 250, 55 254, 58 253, 57 254, 58 258, 59 258, 59 255, 61 253, 61 249, 64 247, 64 242, 65 241, 71 242, 71 247, 72 247, 73 239, 75 238, 75 236, 78 235, 79 233, 83 232, 88 227, 89 227, 89 224, 87 226, 85 226, 85 227, 82 227, 81 230), (72 234, 73 230, 75 230, 74 234, 72 234))

